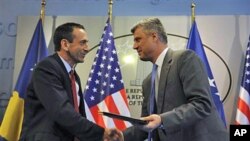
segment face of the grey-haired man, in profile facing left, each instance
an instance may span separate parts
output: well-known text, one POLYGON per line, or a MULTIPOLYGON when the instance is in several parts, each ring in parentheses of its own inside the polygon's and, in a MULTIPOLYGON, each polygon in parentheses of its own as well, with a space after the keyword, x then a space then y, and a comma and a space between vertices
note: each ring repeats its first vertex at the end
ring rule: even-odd
POLYGON ((151 33, 145 33, 142 27, 138 27, 134 32, 134 46, 142 61, 152 61, 153 52, 156 49, 154 36, 151 33))

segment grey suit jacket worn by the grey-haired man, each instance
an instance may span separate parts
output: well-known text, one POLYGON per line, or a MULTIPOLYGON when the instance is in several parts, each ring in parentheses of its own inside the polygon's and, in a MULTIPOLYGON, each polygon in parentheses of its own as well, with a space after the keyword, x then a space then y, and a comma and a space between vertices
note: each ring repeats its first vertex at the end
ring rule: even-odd
MULTIPOLYGON (((149 115, 151 74, 143 82, 141 116, 149 115)), ((226 128, 213 103, 202 61, 190 50, 168 50, 158 88, 157 114, 164 129, 154 141, 228 141, 226 128)), ((124 132, 125 141, 143 141, 147 133, 137 127, 124 132)))

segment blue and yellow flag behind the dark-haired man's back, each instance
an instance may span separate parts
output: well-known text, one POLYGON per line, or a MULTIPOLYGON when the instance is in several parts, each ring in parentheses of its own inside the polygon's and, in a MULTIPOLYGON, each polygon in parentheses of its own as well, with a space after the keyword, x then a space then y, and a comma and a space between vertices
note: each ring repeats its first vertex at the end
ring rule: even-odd
POLYGON ((7 141, 17 141, 19 139, 23 122, 25 91, 33 68, 37 62, 47 55, 48 51, 43 32, 42 19, 40 18, 0 128, 0 136, 7 141))

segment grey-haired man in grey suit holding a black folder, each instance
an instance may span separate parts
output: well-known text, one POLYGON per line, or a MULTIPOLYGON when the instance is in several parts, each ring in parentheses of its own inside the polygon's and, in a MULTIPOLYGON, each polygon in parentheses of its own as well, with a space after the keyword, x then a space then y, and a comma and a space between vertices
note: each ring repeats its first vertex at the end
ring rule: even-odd
POLYGON ((142 61, 157 65, 155 108, 150 114, 151 74, 143 81, 142 119, 144 126, 123 132, 125 141, 228 141, 210 94, 208 76, 202 61, 191 50, 167 48, 167 34, 157 18, 136 24, 134 49, 142 61), (152 131, 152 132, 151 132, 152 131))

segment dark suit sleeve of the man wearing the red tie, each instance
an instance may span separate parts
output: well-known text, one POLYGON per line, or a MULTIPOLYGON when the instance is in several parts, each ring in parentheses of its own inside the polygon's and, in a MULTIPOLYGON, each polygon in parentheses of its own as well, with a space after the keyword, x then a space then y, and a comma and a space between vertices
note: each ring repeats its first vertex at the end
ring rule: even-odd
POLYGON ((102 140, 104 129, 75 112, 65 86, 60 65, 45 61, 33 73, 34 90, 49 117, 80 140, 102 140))

